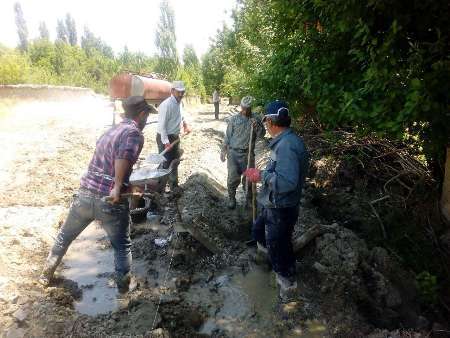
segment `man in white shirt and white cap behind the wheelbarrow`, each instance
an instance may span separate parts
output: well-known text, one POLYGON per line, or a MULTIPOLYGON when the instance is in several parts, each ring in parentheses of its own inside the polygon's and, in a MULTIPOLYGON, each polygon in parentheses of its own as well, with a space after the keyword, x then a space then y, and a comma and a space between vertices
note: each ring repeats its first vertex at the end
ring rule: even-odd
MULTIPOLYGON (((170 148, 165 154, 167 159, 163 164, 163 168, 168 168, 174 159, 181 156, 180 142, 171 146, 171 144, 180 138, 181 126, 186 134, 190 133, 191 129, 186 123, 181 112, 181 100, 183 99, 186 89, 183 81, 174 81, 172 84, 171 96, 165 99, 158 107, 158 126, 156 134, 156 143, 158 144, 159 152, 170 148)), ((178 169, 175 166, 169 176, 169 186, 173 190, 178 186, 178 169)))

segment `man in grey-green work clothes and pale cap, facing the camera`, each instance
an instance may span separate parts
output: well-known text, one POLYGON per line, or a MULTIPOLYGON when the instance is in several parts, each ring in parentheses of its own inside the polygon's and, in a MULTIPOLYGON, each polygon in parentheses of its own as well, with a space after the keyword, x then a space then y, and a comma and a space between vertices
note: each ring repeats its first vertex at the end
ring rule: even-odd
MULTIPOLYGON (((247 165, 254 166, 254 147, 249 147, 251 143, 255 144, 256 137, 263 137, 265 134, 264 126, 252 114, 251 96, 245 96, 241 100, 241 112, 234 115, 228 121, 227 131, 222 144, 220 159, 225 162, 227 158, 227 187, 228 187, 228 208, 236 208, 236 189, 241 183, 245 187, 245 177, 243 172, 247 165), (251 141, 251 142, 250 142, 251 141), (249 153, 250 152, 250 153, 249 153), (250 162, 250 163, 248 163, 250 162)), ((251 200, 251 189, 247 189, 247 202, 251 200)))

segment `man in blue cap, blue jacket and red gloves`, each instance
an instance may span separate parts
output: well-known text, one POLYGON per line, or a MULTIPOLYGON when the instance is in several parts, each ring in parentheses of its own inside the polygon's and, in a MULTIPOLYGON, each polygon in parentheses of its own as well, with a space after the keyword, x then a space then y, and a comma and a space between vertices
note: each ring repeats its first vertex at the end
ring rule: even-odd
POLYGON ((272 137, 270 161, 264 170, 249 168, 250 182, 261 182, 260 215, 252 236, 260 251, 268 251, 277 275, 280 298, 286 300, 297 288, 292 233, 297 222, 302 188, 309 167, 309 153, 303 140, 290 128, 289 109, 283 101, 266 107, 264 126, 272 137))

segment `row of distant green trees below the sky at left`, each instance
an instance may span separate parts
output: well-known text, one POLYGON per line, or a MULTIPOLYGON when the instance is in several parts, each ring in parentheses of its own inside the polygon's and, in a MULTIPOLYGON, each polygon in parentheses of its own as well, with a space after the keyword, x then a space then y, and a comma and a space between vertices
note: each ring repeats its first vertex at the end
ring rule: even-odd
MULTIPOLYGON (((15 8, 23 19, 20 4, 15 8)), ((19 21, 25 23, 24 20, 19 21)), ((126 46, 116 56, 112 48, 88 27, 84 28, 80 47, 77 45, 75 20, 70 14, 65 20, 58 20, 56 30, 57 37, 52 42, 47 26, 41 22, 40 38, 33 41, 27 38, 27 50, 23 53, 0 45, 0 83, 81 86, 106 93, 110 79, 119 72, 142 75, 161 72, 170 80, 184 80, 189 94, 206 97, 202 68, 194 48, 188 45, 184 49, 184 65, 178 61, 174 13, 167 0, 161 3, 158 56, 130 52, 126 46)))

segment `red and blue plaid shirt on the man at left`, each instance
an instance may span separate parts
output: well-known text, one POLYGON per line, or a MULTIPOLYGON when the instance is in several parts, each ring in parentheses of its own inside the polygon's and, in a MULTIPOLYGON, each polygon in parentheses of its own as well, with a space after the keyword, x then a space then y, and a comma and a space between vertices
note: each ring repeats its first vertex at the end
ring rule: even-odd
MULTIPOLYGON (((114 187, 114 161, 125 159, 131 164, 136 163, 143 145, 144 135, 131 119, 126 118, 106 131, 97 141, 88 171, 81 178, 81 188, 109 195, 114 187)), ((125 184, 129 182, 130 174, 131 170, 124 178, 125 184)))

